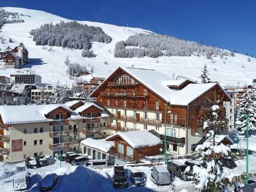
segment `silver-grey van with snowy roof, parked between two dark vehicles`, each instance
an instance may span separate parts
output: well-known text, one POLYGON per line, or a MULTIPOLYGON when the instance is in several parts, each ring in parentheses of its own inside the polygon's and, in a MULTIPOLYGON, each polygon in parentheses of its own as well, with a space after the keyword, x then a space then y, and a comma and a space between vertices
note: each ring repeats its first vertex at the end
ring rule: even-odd
POLYGON ((157 166, 151 169, 151 176, 156 181, 158 185, 169 185, 170 180, 170 173, 164 166, 157 166))

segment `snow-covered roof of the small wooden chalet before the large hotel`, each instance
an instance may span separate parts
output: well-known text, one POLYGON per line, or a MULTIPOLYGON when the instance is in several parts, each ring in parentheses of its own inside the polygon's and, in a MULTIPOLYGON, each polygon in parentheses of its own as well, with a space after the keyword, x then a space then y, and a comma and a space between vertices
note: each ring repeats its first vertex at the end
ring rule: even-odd
POLYGON ((107 137, 106 140, 110 140, 117 135, 133 148, 155 146, 163 143, 161 139, 148 131, 120 132, 107 137))

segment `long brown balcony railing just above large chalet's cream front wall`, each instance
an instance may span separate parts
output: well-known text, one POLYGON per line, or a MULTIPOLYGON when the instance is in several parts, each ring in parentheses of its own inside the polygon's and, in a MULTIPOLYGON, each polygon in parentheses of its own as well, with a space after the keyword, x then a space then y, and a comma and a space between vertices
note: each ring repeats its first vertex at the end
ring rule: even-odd
POLYGON ((139 110, 147 110, 147 111, 162 111, 162 106, 156 106, 156 105, 145 105, 145 104, 112 104, 107 103, 105 104, 106 107, 110 108, 124 108, 124 109, 139 109, 139 110))

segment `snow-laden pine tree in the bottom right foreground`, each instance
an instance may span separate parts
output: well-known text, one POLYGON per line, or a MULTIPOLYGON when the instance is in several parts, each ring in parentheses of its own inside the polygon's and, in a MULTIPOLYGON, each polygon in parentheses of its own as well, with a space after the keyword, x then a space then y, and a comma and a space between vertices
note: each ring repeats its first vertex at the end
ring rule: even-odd
POLYGON ((227 186, 233 186, 238 180, 243 180, 244 176, 230 177, 231 170, 223 168, 220 162, 221 157, 228 157, 230 152, 229 146, 217 142, 219 129, 227 127, 219 115, 219 105, 217 102, 212 106, 212 118, 205 119, 204 129, 209 130, 206 134, 206 141, 196 147, 196 152, 201 152, 201 162, 206 164, 206 168, 193 167, 194 183, 197 191, 222 192, 227 186))

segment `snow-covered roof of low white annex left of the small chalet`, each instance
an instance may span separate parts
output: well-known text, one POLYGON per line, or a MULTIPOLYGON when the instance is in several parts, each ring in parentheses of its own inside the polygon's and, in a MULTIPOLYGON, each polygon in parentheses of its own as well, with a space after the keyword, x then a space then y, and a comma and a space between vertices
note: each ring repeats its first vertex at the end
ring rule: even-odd
POLYGON ((95 148, 96 150, 99 150, 105 153, 108 153, 110 148, 115 146, 115 143, 113 143, 112 141, 105 141, 105 139, 92 139, 92 138, 83 139, 80 142, 80 144, 95 148))

